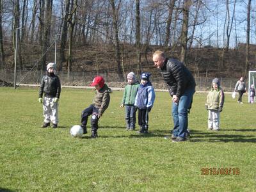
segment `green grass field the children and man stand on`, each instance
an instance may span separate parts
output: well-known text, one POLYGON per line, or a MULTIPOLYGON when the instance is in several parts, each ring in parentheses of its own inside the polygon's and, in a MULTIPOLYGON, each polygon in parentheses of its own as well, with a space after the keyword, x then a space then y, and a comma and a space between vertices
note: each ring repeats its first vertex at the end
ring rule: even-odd
POLYGON ((256 104, 226 94, 221 131, 212 132, 206 94, 195 94, 192 138, 172 143, 167 92, 156 93, 147 135, 125 131, 122 92, 113 92, 99 138, 72 138, 93 95, 63 88, 60 127, 42 129, 37 88, 0 88, 0 191, 256 191, 256 104))

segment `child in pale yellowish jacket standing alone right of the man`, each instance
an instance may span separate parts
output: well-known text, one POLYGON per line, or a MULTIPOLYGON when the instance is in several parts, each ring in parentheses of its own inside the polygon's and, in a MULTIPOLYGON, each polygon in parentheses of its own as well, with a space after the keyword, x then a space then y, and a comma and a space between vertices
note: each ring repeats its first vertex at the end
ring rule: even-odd
POLYGON ((220 112, 223 109, 224 93, 220 86, 220 80, 212 80, 211 91, 207 95, 205 109, 208 110, 208 129, 212 131, 220 130, 220 112))

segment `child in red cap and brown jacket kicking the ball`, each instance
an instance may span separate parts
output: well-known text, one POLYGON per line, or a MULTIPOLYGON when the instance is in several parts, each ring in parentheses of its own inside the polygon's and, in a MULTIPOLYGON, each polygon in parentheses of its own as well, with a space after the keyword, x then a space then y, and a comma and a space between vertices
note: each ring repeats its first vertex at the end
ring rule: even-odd
POLYGON ((93 79, 91 86, 95 86, 95 97, 93 103, 82 111, 81 115, 81 127, 83 127, 84 134, 87 133, 86 125, 88 116, 92 115, 91 127, 92 135, 91 138, 97 138, 97 130, 99 128, 98 122, 104 111, 108 109, 110 102, 111 89, 105 84, 103 77, 97 76, 93 79))

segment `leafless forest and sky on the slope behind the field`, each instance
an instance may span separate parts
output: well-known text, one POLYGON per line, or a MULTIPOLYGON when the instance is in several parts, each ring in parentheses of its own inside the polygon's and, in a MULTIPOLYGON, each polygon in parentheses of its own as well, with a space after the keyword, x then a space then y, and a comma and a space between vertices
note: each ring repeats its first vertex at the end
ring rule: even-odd
POLYGON ((153 68, 152 52, 195 76, 239 77, 255 68, 255 1, 0 0, 0 68, 125 72, 153 68), (16 49, 17 45, 17 49, 16 49), (57 58, 54 58, 56 45, 57 58))

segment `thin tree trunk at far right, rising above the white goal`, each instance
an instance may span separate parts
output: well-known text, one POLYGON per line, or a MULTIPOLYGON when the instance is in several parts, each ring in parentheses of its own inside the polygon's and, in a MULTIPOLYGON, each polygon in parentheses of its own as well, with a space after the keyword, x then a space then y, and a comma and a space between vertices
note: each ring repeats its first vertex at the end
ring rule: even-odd
POLYGON ((245 58, 245 75, 248 74, 250 69, 250 13, 251 13, 251 0, 248 0, 247 5, 247 29, 246 29, 246 58, 245 58))

